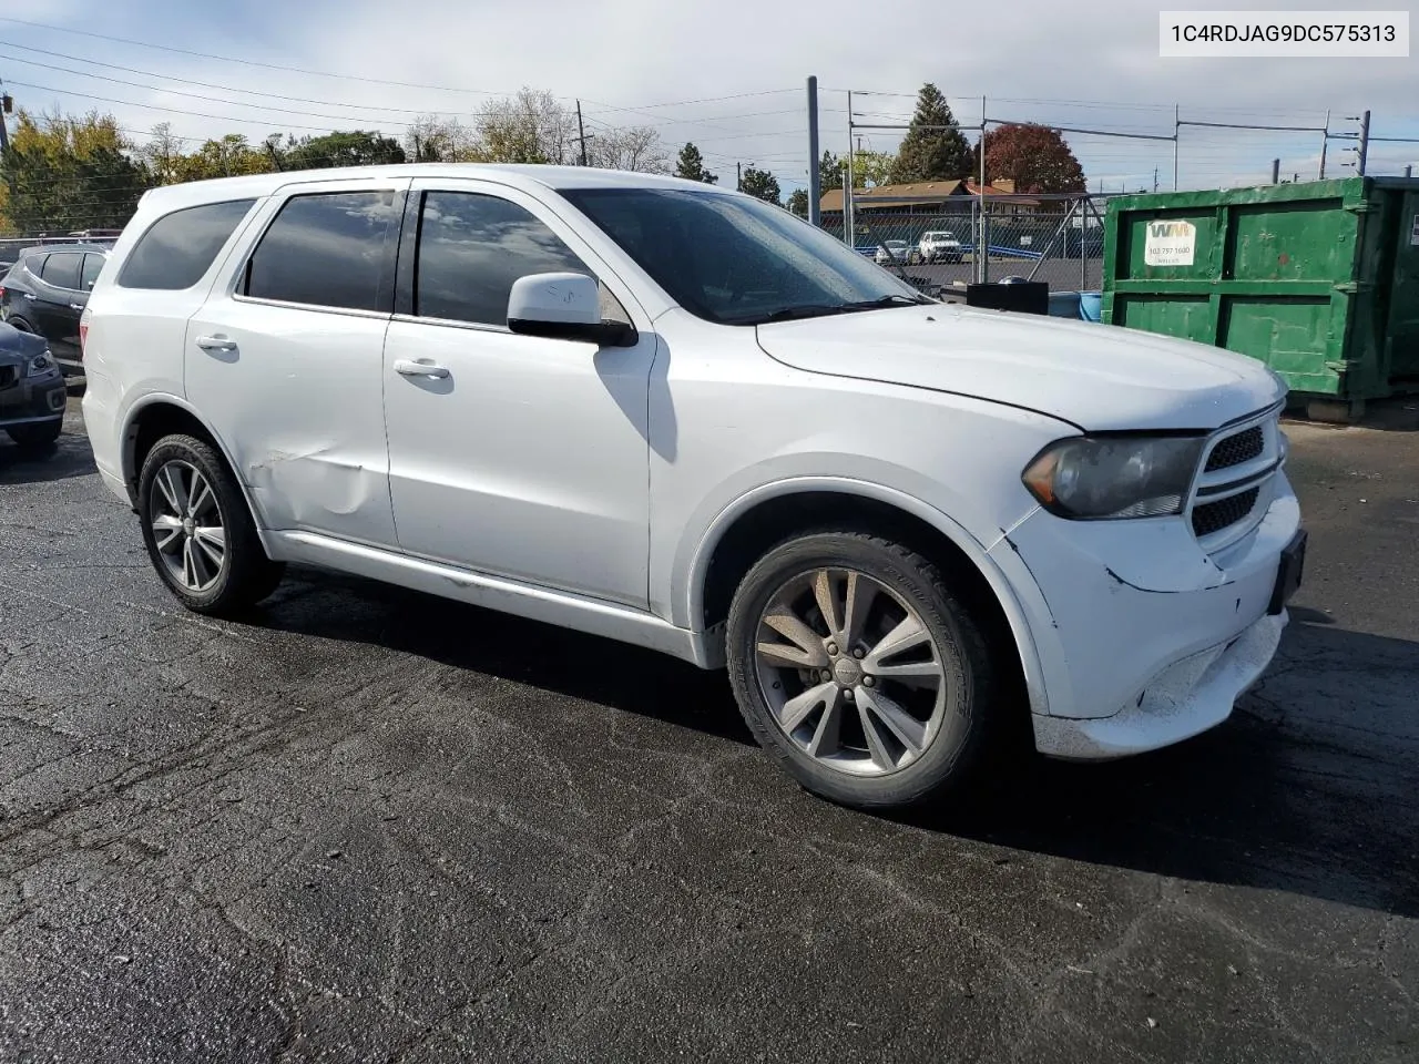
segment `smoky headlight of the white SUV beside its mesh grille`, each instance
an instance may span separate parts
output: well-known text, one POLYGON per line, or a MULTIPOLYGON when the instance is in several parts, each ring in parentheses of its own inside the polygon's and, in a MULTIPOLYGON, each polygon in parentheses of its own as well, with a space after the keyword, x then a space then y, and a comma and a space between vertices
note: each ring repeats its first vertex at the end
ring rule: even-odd
POLYGON ((1042 506, 1061 518, 1181 514, 1202 445, 1199 436, 1059 440, 1025 467, 1022 480, 1042 506))

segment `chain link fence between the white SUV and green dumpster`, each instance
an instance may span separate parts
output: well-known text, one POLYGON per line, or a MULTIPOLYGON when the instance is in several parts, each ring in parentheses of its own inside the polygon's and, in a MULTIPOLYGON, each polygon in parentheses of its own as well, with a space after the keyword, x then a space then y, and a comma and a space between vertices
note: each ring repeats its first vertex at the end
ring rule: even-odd
MULTIPOLYGON (((931 295, 1007 277, 1044 281, 1051 291, 1103 287, 1107 197, 990 196, 983 210, 976 197, 961 200, 857 200, 853 245, 931 295)), ((820 226, 844 238, 841 211, 824 211, 820 226)))

